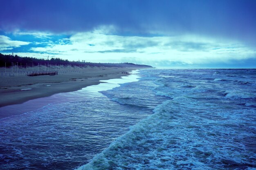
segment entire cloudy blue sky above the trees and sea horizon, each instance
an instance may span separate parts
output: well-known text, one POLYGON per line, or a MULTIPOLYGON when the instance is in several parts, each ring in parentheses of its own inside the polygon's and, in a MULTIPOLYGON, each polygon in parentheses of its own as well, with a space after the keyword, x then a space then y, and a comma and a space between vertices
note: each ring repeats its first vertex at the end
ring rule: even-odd
POLYGON ((0 53, 255 68, 256 0, 1 1, 0 53))

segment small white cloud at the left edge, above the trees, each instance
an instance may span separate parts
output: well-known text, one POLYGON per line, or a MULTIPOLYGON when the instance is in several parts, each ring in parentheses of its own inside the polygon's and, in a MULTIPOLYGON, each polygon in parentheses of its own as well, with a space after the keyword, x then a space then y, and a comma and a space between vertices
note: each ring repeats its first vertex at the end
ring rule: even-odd
POLYGON ((11 40, 5 35, 0 35, 0 51, 10 50, 27 44, 30 44, 30 42, 11 40))

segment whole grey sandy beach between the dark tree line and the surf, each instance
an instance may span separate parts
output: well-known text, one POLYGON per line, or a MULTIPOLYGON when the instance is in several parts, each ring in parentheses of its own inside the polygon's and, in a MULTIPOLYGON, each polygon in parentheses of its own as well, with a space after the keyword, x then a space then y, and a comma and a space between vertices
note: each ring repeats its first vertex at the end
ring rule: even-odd
MULTIPOLYGON (((31 69, 31 68, 30 68, 31 69)), ((36 70, 37 68, 34 67, 36 70)), ((99 80, 119 78, 124 72, 138 68, 87 67, 59 71, 58 75, 27 76, 26 74, 0 75, 0 107, 21 104, 31 99, 56 93, 77 91, 86 86, 99 84, 99 80), (123 73, 122 73, 123 72, 123 73)), ((4 68, 1 68, 2 73, 4 68)), ((8 71, 7 71, 8 72, 8 71)), ((9 72, 11 72, 9 70, 9 72)))

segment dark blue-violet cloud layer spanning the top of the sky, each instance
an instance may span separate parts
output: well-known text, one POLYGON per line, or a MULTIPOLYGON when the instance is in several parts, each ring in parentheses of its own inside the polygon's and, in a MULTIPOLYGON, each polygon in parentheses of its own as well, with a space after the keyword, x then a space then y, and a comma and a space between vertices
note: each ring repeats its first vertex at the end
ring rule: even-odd
POLYGON ((0 29, 72 33, 114 25, 120 34, 195 33, 256 42, 255 0, 6 0, 0 29))

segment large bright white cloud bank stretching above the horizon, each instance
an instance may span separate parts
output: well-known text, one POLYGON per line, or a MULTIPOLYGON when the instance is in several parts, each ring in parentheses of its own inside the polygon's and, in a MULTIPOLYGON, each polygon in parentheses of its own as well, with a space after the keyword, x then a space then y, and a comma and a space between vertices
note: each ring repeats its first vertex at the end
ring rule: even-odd
POLYGON ((155 66, 203 66, 231 64, 256 57, 256 50, 239 41, 202 35, 122 36, 99 29, 75 33, 35 53, 90 62, 137 62, 155 66))

